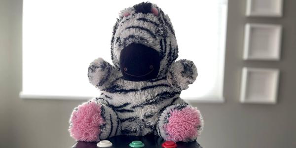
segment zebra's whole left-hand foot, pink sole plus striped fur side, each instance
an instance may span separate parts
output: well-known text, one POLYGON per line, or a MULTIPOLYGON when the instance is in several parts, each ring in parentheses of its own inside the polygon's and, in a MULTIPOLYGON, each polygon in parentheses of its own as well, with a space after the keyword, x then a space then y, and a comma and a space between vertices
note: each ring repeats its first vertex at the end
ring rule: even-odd
POLYGON ((118 135, 118 126, 118 117, 109 106, 90 101, 75 108, 69 131, 75 140, 93 142, 118 135))

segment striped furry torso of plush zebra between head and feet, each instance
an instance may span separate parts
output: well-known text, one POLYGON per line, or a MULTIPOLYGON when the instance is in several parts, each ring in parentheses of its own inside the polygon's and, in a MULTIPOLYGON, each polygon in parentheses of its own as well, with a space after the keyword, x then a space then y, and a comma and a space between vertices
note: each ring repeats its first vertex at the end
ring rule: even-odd
POLYGON ((103 89, 102 95, 95 100, 109 105, 116 112, 121 134, 144 136, 154 132, 159 113, 165 107, 185 103, 179 95, 180 91, 170 86, 165 77, 147 82, 127 81, 120 77, 109 88, 103 89))

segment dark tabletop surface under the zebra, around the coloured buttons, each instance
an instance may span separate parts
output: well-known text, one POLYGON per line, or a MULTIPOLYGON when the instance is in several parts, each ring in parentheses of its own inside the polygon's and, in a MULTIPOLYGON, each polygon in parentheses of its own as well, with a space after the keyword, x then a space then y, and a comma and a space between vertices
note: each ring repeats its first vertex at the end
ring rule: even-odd
MULTIPOLYGON (((142 141, 145 144, 144 148, 161 148, 161 144, 164 142, 162 138, 153 134, 144 137, 120 135, 111 137, 107 140, 113 144, 110 148, 131 148, 129 147, 129 144, 135 140, 142 141)), ((97 148, 97 143, 98 142, 78 141, 72 148, 97 148)), ((177 142, 177 146, 177 148, 202 148, 196 141, 187 143, 177 142)))

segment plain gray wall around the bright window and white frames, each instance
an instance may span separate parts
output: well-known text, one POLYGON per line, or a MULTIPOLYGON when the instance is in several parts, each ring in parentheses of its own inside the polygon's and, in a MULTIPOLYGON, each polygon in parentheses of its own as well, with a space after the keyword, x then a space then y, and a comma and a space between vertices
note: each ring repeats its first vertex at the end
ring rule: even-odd
MULTIPOLYGON (((296 0, 285 0, 282 18, 246 18, 245 0, 229 0, 225 57, 224 104, 195 104, 205 129, 204 148, 296 148, 296 0), (242 61, 246 22, 282 24, 279 62, 242 61), (281 70, 279 103, 239 103, 241 68, 281 70)), ((22 0, 0 0, 0 147, 69 148, 68 119, 82 101, 22 100, 22 0)), ((201 20, 202 21, 202 20, 201 20)))

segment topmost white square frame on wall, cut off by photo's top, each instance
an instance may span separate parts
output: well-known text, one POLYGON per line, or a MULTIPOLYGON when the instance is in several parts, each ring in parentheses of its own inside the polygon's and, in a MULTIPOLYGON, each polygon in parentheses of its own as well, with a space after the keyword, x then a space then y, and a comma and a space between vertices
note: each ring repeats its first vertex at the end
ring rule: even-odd
POLYGON ((281 17, 283 0, 247 0, 247 16, 281 17))

